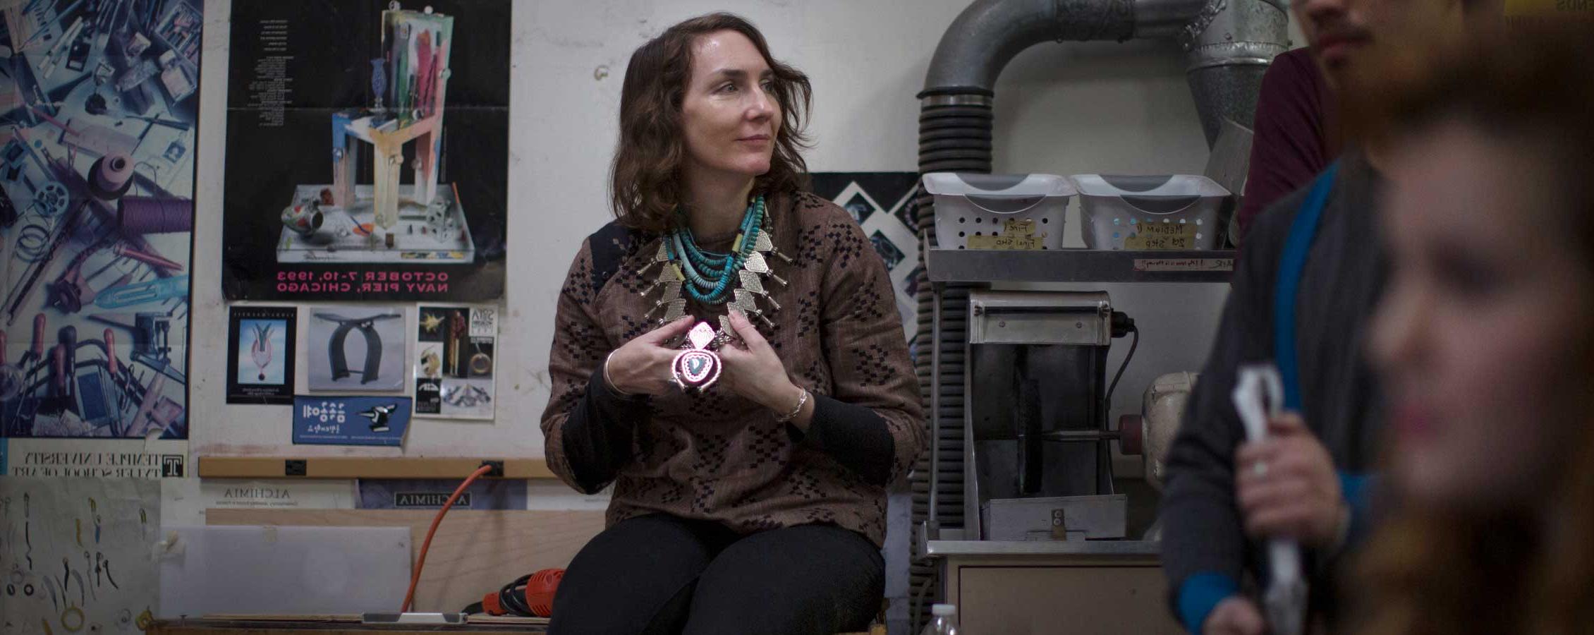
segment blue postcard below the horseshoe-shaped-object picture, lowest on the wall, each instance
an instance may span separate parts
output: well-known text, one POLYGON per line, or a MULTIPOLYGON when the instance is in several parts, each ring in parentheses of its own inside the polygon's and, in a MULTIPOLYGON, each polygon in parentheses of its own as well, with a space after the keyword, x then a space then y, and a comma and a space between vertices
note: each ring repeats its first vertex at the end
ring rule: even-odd
POLYGON ((295 396, 295 445, 403 445, 410 397, 295 396))

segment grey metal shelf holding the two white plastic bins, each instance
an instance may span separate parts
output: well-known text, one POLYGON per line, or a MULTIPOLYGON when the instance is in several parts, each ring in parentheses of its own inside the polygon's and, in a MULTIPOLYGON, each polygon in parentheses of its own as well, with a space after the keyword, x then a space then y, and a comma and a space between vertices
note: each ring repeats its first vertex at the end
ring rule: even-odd
POLYGON ((1234 250, 931 249, 931 282, 1227 282, 1234 250))

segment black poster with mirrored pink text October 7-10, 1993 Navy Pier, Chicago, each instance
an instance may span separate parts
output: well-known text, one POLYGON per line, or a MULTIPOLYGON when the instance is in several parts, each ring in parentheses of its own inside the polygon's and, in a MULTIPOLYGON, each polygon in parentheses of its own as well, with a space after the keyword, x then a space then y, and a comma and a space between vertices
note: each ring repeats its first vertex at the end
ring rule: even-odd
POLYGON ((228 300, 504 297, 508 0, 233 2, 228 300))

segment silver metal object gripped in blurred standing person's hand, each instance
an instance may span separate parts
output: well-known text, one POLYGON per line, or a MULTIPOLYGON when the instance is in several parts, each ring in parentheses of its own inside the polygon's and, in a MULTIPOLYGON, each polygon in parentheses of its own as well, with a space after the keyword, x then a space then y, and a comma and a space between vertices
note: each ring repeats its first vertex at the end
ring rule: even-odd
MULTIPOLYGON (((1267 420, 1283 410, 1285 389, 1278 369, 1272 364, 1248 364, 1240 367, 1234 383, 1234 410, 1245 424, 1247 440, 1258 444, 1267 439, 1267 420)), ((1274 538, 1267 541, 1267 590, 1262 605, 1274 635, 1301 635, 1305 621, 1307 584, 1301 570, 1301 546, 1296 541, 1274 538)))

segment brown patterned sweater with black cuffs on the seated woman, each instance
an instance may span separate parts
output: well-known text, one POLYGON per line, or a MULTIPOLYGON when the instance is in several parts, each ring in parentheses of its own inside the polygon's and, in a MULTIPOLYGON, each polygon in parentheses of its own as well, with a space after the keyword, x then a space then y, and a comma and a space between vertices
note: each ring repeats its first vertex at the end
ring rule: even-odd
MULTIPOLYGON (((609 351, 657 327, 657 270, 638 270, 657 235, 609 223, 587 238, 559 292, 542 413, 548 467, 595 493, 614 482, 609 525, 666 512, 754 533, 834 523, 880 544, 885 493, 925 448, 918 383, 885 263, 846 211, 810 193, 771 196, 781 254, 767 281, 779 310, 759 327, 787 375, 815 396, 807 434, 720 385, 701 394, 622 399, 601 375, 609 351)), ((725 250, 730 239, 703 244, 725 250)), ((722 306, 689 302, 717 324, 722 306)))

